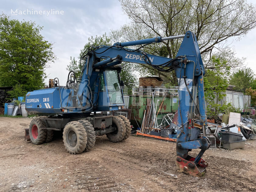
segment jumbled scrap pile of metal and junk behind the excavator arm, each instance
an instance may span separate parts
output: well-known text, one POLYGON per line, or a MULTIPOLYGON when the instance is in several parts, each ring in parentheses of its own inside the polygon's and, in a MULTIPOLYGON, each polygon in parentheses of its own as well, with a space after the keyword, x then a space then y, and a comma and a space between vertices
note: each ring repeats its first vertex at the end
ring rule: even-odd
MULTIPOLYGON (((137 130, 137 135, 176 141, 178 113, 162 115, 161 123, 158 123, 159 110, 156 110, 155 103, 151 101, 144 111, 143 123, 140 130, 137 130)), ((223 147, 230 150, 244 148, 246 139, 256 139, 256 120, 241 117, 240 113, 223 114, 219 119, 208 119, 207 125, 206 135, 212 148, 223 147)), ((200 137, 202 137, 201 125, 199 120, 194 120, 190 140, 200 137)))

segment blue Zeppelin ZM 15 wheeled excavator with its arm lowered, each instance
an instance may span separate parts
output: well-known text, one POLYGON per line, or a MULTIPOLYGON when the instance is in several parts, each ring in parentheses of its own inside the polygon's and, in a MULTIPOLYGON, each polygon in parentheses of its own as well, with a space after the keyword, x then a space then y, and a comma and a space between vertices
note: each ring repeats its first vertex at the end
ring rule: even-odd
POLYGON ((81 57, 84 63, 80 78, 69 72, 66 87, 59 86, 35 90, 26 95, 26 109, 29 112, 48 115, 33 119, 27 129, 27 137, 33 144, 51 141, 53 130, 63 130, 63 142, 69 153, 77 154, 90 150, 95 135, 106 134, 112 142, 127 139, 131 132, 129 120, 124 116, 98 114, 99 111, 120 110, 124 106, 123 82, 119 73, 121 62, 132 62, 161 71, 174 70, 179 84, 178 129, 176 143, 176 165, 180 172, 202 176, 207 167, 201 157, 209 148, 205 126, 207 119, 204 103, 204 65, 194 33, 172 37, 155 37, 112 46, 91 46, 81 57), (183 38, 176 58, 151 55, 141 50, 148 44, 183 38), (142 45, 137 49, 129 46, 142 45), (198 106, 197 106, 198 97, 198 106), (203 137, 190 140, 194 129, 195 110, 200 117, 203 137), (200 148, 196 157, 188 153, 200 148))

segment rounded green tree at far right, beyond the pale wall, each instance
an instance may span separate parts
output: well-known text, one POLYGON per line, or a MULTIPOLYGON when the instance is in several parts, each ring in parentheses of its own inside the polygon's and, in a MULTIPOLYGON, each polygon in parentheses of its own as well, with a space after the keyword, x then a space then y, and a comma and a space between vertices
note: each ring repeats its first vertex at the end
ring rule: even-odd
POLYGON ((251 68, 236 69, 231 75, 229 85, 236 86, 236 90, 243 91, 252 86, 254 82, 254 72, 251 68))

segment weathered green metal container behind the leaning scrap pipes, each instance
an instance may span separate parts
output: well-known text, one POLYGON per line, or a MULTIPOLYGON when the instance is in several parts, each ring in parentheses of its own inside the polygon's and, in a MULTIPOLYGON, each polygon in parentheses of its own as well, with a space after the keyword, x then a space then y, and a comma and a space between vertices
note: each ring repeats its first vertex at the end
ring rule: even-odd
MULTIPOLYGON (((141 127, 142 120, 144 117, 144 110, 146 110, 146 106, 147 106, 147 100, 148 100, 148 104, 150 104, 151 99, 152 99, 152 96, 150 95, 130 95, 130 98, 129 98, 129 109, 131 109, 130 122, 134 127, 138 127, 137 123, 141 127), (137 120, 137 123, 135 119, 137 120)), ((156 113, 159 110, 159 113, 157 116, 157 122, 158 124, 160 124, 164 115, 166 115, 167 113, 174 113, 176 110, 178 110, 179 98, 178 96, 154 96, 155 105, 157 103, 157 100, 159 100, 156 108, 156 113), (162 104, 161 110, 159 110, 159 106, 161 105, 163 99, 164 99, 164 102, 162 104)))

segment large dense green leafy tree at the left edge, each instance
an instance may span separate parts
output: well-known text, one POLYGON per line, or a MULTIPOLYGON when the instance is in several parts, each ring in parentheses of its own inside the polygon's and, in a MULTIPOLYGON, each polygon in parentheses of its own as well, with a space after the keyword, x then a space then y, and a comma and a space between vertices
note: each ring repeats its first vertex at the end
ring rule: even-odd
POLYGON ((44 68, 55 55, 42 29, 34 22, 0 15, 0 86, 14 86, 20 94, 43 87, 44 68))

